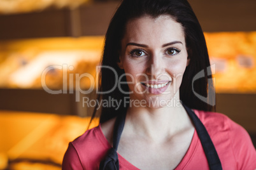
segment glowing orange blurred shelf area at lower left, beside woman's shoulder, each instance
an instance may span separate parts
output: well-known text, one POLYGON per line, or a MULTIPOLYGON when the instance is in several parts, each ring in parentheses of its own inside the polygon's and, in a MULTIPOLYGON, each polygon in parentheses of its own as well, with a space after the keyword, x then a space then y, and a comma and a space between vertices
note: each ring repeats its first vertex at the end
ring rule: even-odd
MULTIPOLYGON (((0 111, 1 169, 8 159, 31 158, 61 164, 69 141, 82 135, 87 130, 89 121, 90 117, 0 111)), ((96 118, 90 128, 98 124, 99 119, 96 118)), ((27 165, 27 168, 31 166, 32 164, 27 165)), ((35 169, 39 167, 34 166, 35 169)))

